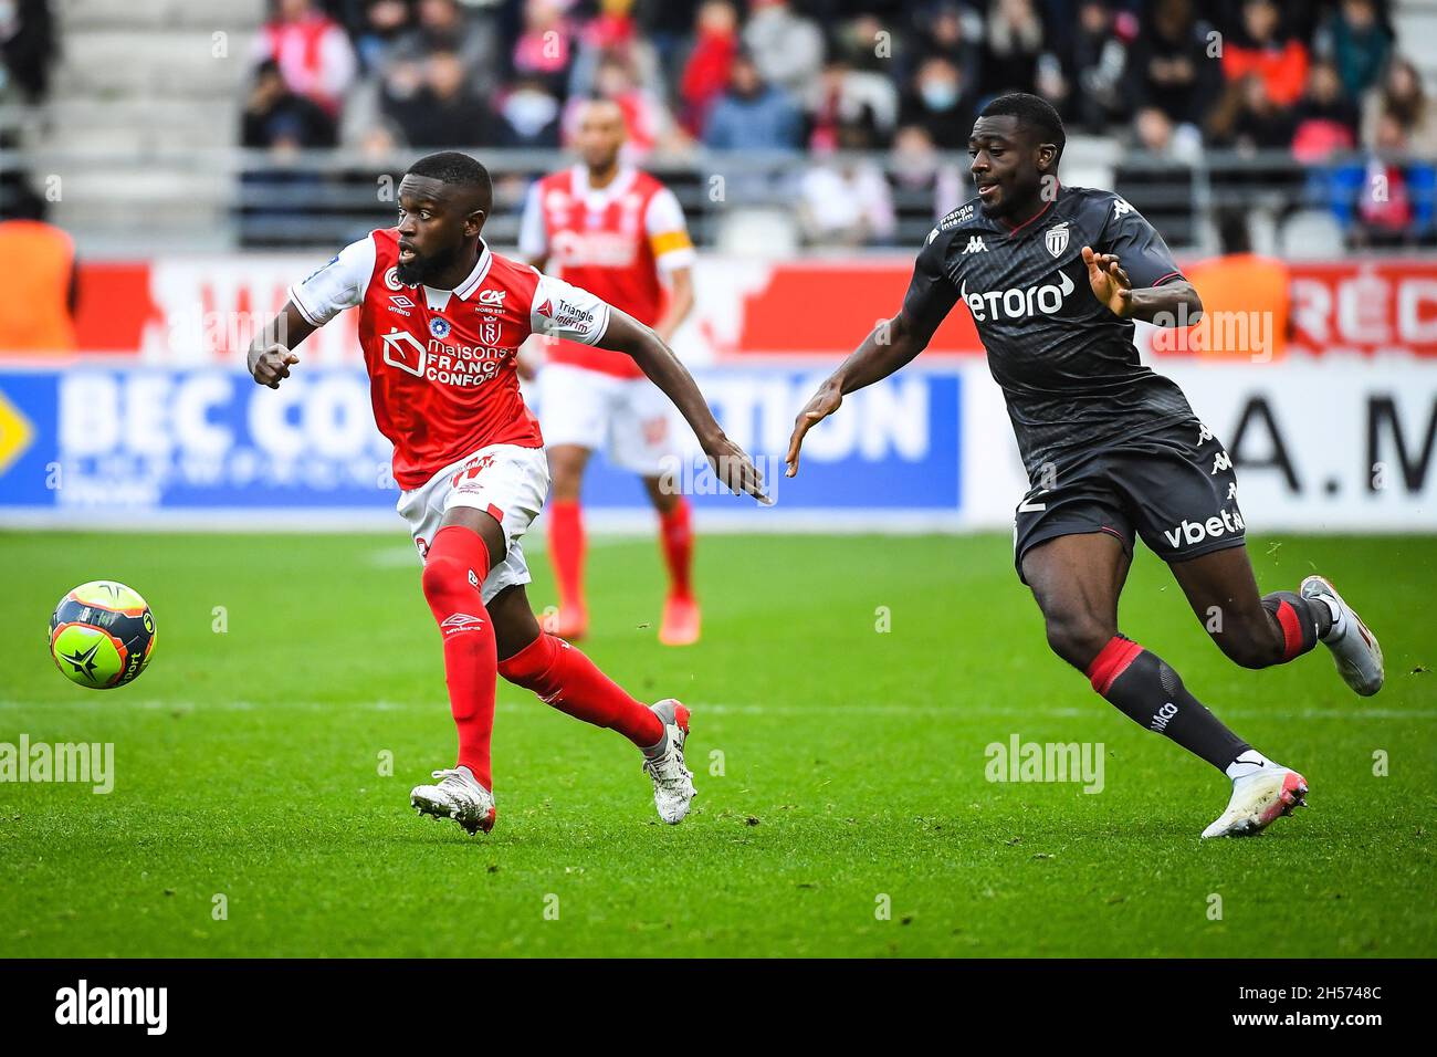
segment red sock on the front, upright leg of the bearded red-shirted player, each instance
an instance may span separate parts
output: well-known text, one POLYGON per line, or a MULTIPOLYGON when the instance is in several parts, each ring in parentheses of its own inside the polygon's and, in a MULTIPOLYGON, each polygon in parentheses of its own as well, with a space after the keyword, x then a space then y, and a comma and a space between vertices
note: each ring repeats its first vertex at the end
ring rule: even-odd
POLYGON ((424 597, 444 634, 444 680, 458 728, 458 767, 493 791, 489 739, 494 731, 499 656, 494 627, 479 585, 489 575, 489 551, 473 529, 440 529, 424 559, 424 597))

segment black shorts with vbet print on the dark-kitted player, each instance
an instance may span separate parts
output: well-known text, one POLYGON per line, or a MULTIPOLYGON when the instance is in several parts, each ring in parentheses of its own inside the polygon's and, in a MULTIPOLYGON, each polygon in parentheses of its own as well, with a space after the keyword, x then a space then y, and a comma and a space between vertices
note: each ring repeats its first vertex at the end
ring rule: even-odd
POLYGON ((1191 418, 1095 449, 1046 480, 1039 475, 1013 522, 1019 580, 1029 549, 1082 532, 1109 532, 1129 555, 1141 536, 1165 562, 1240 546, 1244 525, 1227 449, 1191 418))

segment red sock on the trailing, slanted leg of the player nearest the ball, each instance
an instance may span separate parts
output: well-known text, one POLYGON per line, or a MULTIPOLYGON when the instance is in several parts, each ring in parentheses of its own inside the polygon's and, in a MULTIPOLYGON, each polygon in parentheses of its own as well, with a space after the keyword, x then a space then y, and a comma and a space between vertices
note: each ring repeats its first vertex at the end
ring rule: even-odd
POLYGON ((599 672, 582 650, 547 631, 499 662, 499 674, 575 719, 618 731, 641 749, 664 738, 658 716, 599 672))

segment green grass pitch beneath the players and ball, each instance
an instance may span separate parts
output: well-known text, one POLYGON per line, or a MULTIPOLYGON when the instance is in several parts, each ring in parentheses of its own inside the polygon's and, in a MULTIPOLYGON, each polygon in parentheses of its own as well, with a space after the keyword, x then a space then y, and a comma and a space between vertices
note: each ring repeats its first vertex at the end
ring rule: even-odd
POLYGON ((655 544, 599 541, 583 647, 693 706, 694 814, 658 824, 637 751, 500 683, 499 825, 470 838, 408 807, 454 733, 402 531, 0 534, 0 742, 114 742, 116 771, 0 784, 0 956, 1431 956, 1437 538, 1250 549, 1265 590, 1328 572, 1388 670, 1369 700, 1321 647, 1240 670, 1140 555, 1124 630, 1312 784, 1257 840, 1198 840, 1226 781, 1048 653, 997 535, 701 538, 685 650, 655 641, 655 544), (108 693, 43 641, 92 578, 160 628, 108 693), (989 782, 1013 735, 1102 742, 1102 792, 989 782))

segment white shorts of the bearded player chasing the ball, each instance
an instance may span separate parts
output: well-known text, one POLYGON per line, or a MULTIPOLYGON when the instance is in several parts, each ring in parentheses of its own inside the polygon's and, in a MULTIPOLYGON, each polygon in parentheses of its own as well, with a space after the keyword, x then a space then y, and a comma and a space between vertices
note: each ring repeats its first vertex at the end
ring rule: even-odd
POLYGON ((543 509, 549 495, 549 459, 542 447, 490 444, 467 459, 445 466, 425 483, 399 492, 399 516, 420 558, 430 552, 444 515, 456 506, 473 506, 494 516, 504 529, 504 559, 484 577, 480 595, 487 605, 506 587, 529 582, 529 567, 519 538, 543 509))

